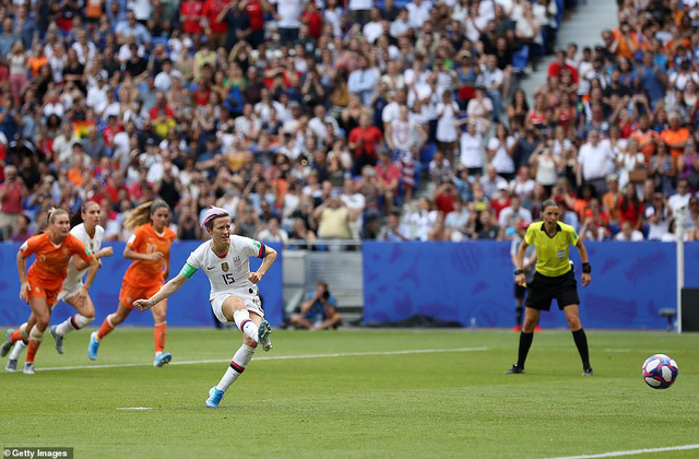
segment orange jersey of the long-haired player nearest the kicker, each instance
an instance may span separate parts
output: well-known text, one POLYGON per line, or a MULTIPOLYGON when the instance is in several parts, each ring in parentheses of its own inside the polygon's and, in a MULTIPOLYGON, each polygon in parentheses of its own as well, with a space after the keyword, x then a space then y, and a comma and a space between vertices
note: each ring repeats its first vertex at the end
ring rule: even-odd
POLYGON ((127 247, 139 254, 155 254, 159 251, 163 254, 164 260, 134 260, 123 275, 125 282, 135 287, 162 284, 165 281, 163 263, 170 259, 170 246, 174 240, 175 232, 167 226, 162 235, 155 232, 151 223, 135 228, 127 243, 127 247))

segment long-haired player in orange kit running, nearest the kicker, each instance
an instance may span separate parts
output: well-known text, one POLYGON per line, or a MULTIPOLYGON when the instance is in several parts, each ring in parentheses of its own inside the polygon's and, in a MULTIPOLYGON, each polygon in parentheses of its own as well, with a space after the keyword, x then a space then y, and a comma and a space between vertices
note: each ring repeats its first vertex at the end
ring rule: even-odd
MULTIPOLYGON (((133 309, 133 302, 139 298, 150 298, 165 283, 169 275, 170 246, 175 240, 175 233, 167 227, 170 219, 170 208, 165 201, 155 200, 143 203, 127 214, 123 226, 134 228, 123 249, 123 258, 133 260, 121 283, 119 307, 105 319, 90 337, 87 356, 97 358, 97 350, 102 339, 121 323, 133 309)), ((167 302, 164 299, 151 309, 155 330, 155 360, 153 366, 161 367, 173 358, 165 350, 167 322, 165 314, 167 302)))

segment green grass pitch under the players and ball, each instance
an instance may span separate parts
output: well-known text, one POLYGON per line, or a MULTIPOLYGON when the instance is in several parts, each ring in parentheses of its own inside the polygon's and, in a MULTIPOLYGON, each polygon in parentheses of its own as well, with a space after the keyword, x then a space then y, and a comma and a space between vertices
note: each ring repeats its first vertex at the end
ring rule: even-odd
POLYGON ((589 331, 588 378, 566 331, 537 333, 526 374, 503 375, 517 354, 509 331, 275 330, 275 349, 258 351, 217 410, 204 399, 237 331, 171 328, 164 368, 151 366, 152 329, 116 330, 94 363, 88 336, 69 334, 58 355, 47 333, 36 375, 0 374, 0 446, 74 447, 76 458, 545 458, 699 444, 691 333, 589 331), (640 375, 659 352, 679 366, 667 390, 640 375), (134 407, 151 410, 119 410, 134 407))

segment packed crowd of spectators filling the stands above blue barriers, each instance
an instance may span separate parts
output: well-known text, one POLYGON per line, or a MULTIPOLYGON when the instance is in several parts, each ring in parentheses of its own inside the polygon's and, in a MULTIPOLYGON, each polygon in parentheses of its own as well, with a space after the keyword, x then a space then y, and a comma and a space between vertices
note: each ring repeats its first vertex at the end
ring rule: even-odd
MULTIPOLYGON (((619 0, 518 89, 574 0, 0 2, 0 227, 155 197, 262 240, 510 239, 544 200, 585 239, 699 238, 699 2, 619 0)), ((301 244, 301 247, 304 245, 301 244)))

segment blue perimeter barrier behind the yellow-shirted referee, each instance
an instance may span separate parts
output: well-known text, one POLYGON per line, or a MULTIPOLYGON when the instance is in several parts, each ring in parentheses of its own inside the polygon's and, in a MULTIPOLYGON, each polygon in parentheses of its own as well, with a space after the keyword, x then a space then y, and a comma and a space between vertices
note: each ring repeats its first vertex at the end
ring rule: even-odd
MULTIPOLYGON (((675 245, 588 243, 592 284, 582 289, 585 328, 666 327, 661 308, 676 306, 675 245)), ((686 284, 699 285, 699 244, 686 245, 686 284)), ((572 259, 580 266, 578 252, 572 259)), ((365 243, 364 320, 386 323, 414 315, 463 326, 514 326, 513 267, 509 243, 365 243)), ((578 281, 580 269, 577 269, 578 281)), ((556 303, 543 328, 567 327, 556 303)))

